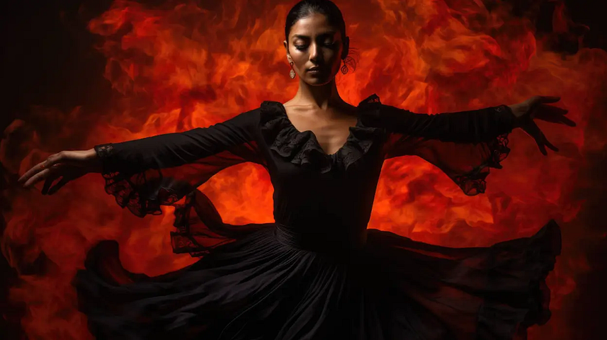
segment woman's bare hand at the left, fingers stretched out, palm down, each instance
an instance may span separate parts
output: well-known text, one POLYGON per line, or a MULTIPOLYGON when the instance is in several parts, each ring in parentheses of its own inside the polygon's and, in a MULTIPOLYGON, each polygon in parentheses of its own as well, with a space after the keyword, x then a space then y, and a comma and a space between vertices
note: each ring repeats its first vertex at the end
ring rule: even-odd
POLYGON ((18 179, 24 188, 30 188, 35 183, 45 181, 42 195, 52 195, 67 182, 78 179, 89 172, 101 172, 101 161, 95 149, 66 150, 50 155, 29 169, 18 179), (61 178, 54 186, 52 182, 61 178))

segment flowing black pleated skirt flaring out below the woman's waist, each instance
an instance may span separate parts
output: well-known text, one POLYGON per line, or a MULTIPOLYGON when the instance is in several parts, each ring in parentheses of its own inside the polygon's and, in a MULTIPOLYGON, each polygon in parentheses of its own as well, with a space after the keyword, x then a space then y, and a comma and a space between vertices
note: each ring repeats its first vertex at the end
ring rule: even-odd
POLYGON ((550 318, 554 221, 533 237, 448 248, 368 230, 338 255, 280 242, 274 224, 162 276, 126 271, 104 241, 74 285, 96 339, 526 339, 550 318))

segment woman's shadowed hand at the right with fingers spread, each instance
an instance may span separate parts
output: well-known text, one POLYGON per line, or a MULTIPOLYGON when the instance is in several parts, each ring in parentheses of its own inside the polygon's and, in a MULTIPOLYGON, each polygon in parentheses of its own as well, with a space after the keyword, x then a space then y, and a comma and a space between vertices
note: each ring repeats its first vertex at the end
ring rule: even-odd
POLYGON ((565 117, 567 110, 557 108, 556 106, 548 105, 560 101, 560 97, 555 96, 533 96, 522 103, 508 106, 516 117, 516 128, 521 128, 523 131, 533 137, 540 148, 540 152, 547 155, 546 147, 553 151, 559 151, 557 147, 552 145, 546 139, 546 136, 540 130, 537 124, 533 121, 534 118, 545 120, 550 123, 565 124, 567 126, 575 126, 575 122, 565 117))

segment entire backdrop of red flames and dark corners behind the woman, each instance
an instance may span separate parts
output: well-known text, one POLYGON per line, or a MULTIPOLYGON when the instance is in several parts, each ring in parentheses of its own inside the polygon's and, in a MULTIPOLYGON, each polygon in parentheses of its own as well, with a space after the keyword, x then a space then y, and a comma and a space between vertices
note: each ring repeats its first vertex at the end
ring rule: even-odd
MULTIPOLYGON (((595 1, 598 2, 598 1, 595 1)), ((11 2, 0 142, 0 334, 90 339, 70 280, 87 249, 116 239, 130 271, 195 261, 171 252, 172 208, 120 210, 90 174, 54 196, 16 185, 62 149, 89 149, 207 126, 297 90, 282 46, 295 1, 11 2), (5 87, 6 89, 6 87, 5 87)), ((593 1, 339 1, 356 72, 338 76, 350 103, 376 93, 414 112, 463 111, 556 95, 577 128, 540 124, 560 152, 521 131, 468 197, 413 157, 385 163, 369 227, 445 246, 488 246, 550 218, 563 250, 548 277, 552 319, 530 339, 598 339, 606 305, 607 26, 593 1), (603 32, 603 33, 600 33, 603 32)), ((242 164, 200 187, 227 222, 272 220, 268 174, 242 164)))

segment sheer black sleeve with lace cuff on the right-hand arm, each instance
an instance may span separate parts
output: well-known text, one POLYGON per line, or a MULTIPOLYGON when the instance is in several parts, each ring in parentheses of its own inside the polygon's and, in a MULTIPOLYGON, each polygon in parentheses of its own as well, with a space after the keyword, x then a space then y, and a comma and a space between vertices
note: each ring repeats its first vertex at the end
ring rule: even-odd
POLYGON ((381 106, 368 124, 388 132, 385 158, 414 155, 434 164, 467 195, 484 193, 489 168, 501 169, 515 117, 508 106, 428 115, 381 106))

